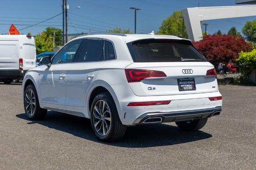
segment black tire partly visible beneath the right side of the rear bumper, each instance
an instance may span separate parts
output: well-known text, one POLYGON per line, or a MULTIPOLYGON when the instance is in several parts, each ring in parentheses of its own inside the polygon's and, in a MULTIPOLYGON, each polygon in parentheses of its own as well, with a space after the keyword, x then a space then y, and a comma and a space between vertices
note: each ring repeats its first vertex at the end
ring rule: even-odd
POLYGON ((176 125, 184 131, 196 131, 202 129, 206 124, 208 117, 189 121, 176 121, 176 125))

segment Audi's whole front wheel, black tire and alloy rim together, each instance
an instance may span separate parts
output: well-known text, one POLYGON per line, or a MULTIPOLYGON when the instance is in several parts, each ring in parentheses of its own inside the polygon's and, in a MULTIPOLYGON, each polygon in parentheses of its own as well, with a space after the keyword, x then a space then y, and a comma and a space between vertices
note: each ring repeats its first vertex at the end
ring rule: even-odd
POLYGON ((27 86, 24 92, 23 99, 24 99, 25 113, 29 119, 40 120, 45 117, 47 109, 42 109, 40 107, 34 84, 30 84, 27 86))

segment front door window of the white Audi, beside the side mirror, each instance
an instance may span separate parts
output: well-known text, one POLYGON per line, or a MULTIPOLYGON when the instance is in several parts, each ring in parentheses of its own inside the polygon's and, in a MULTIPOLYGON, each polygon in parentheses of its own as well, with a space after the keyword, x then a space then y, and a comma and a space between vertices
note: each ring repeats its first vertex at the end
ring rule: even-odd
POLYGON ((52 64, 71 63, 82 39, 72 41, 63 47, 52 59, 52 64))

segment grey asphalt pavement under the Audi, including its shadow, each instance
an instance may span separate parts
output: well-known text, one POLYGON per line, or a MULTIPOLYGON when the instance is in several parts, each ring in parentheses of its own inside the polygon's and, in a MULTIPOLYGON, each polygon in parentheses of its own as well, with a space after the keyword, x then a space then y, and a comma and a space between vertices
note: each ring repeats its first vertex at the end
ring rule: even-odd
POLYGON ((128 127, 122 141, 98 141, 90 120, 48 111, 24 113, 21 84, 0 83, 0 170, 255 169, 256 87, 219 86, 221 115, 199 131, 175 123, 128 127))

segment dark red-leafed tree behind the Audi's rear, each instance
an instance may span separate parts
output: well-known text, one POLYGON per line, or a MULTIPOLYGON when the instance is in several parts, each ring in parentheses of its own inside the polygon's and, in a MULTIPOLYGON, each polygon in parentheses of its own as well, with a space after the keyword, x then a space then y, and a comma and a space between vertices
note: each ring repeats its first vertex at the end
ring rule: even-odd
POLYGON ((234 62, 238 53, 250 49, 250 45, 239 35, 206 35, 193 44, 214 66, 220 62, 234 62))

